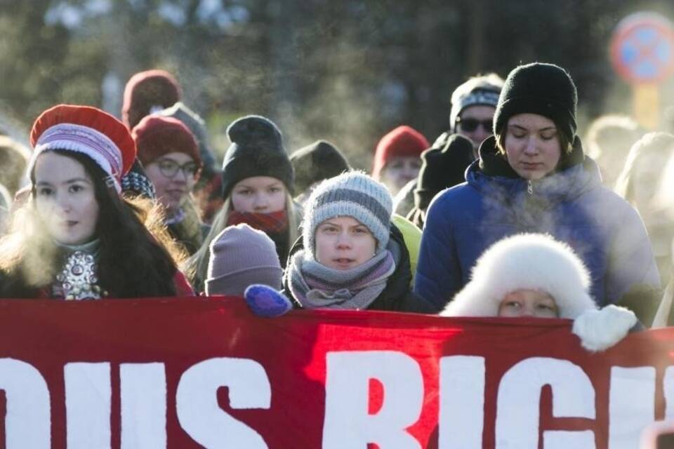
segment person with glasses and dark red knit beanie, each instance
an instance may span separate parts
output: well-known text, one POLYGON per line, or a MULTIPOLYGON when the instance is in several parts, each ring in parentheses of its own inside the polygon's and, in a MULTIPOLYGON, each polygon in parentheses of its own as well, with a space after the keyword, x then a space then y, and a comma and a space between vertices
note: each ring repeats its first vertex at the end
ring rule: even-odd
MULTIPOLYGON (((190 192, 201 169, 194 135, 178 119, 149 115, 131 131, 138 159, 166 210, 169 233, 192 255, 203 241, 199 213, 190 192)), ((207 229, 206 229, 207 230, 207 229)))

